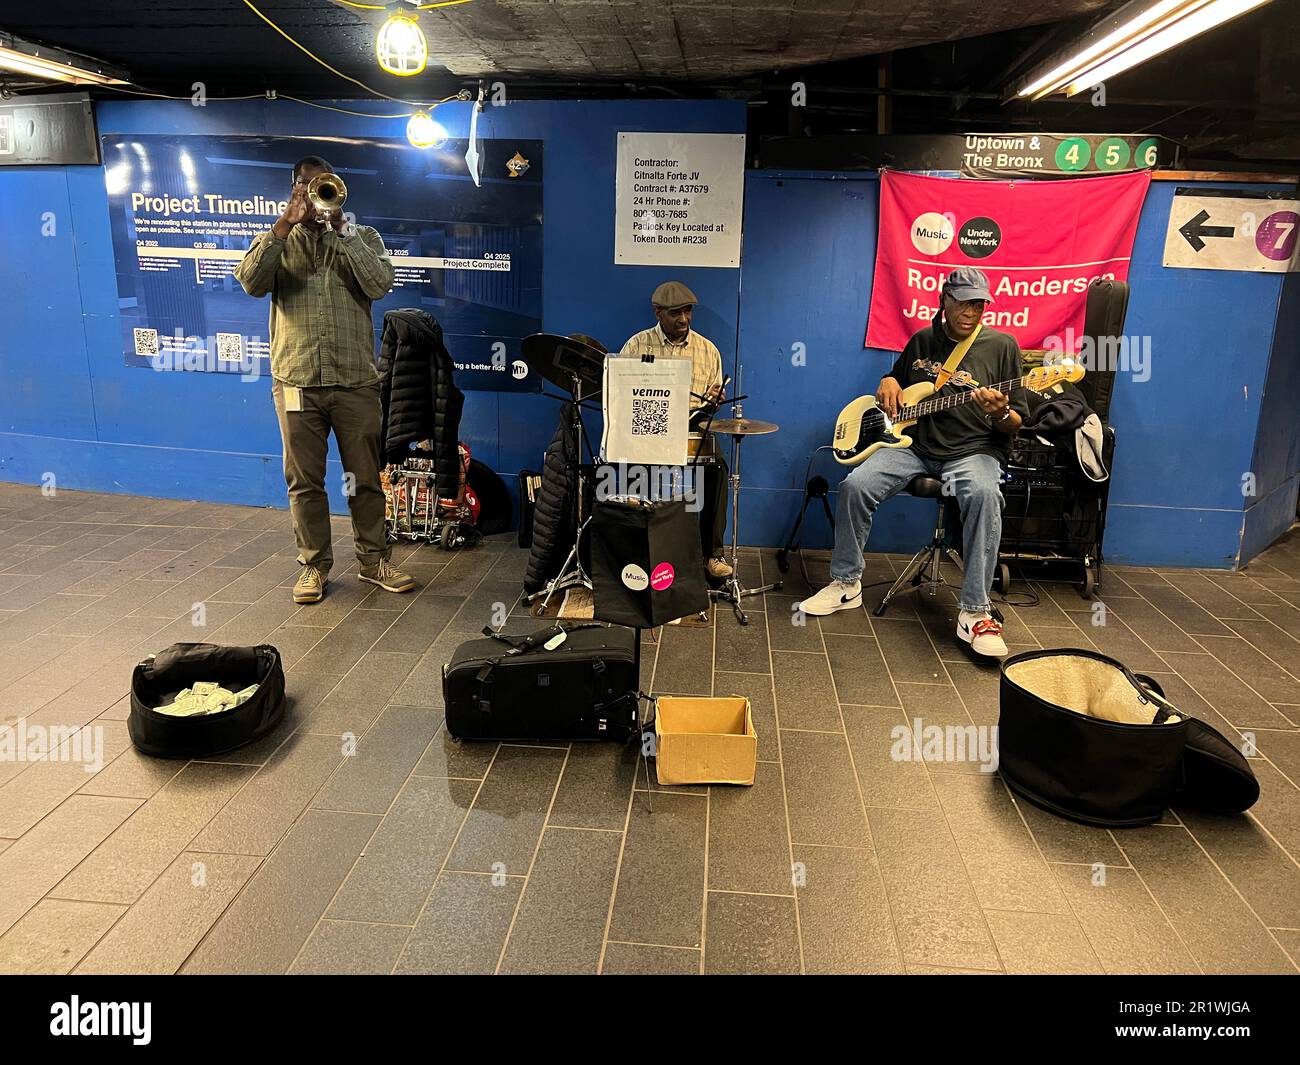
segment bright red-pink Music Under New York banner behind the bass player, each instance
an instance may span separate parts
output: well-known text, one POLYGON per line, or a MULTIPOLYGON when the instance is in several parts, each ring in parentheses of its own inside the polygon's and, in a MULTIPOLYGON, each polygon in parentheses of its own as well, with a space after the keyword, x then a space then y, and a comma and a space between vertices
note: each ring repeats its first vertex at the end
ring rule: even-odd
POLYGON ((901 351, 933 320, 944 278, 957 267, 984 270, 993 293, 984 324, 1022 348, 1080 334, 1088 283, 1128 278, 1149 182, 1145 170, 1063 181, 887 170, 866 346, 901 351))

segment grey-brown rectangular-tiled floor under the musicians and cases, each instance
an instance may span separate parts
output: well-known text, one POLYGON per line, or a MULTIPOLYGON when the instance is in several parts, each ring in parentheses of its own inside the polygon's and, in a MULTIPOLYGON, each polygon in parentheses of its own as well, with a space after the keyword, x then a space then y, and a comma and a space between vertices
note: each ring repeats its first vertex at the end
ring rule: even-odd
POLYGON ((753 788, 647 795, 630 750, 442 731, 442 662, 516 603, 510 542, 398 549, 422 588, 395 597, 335 528, 329 598, 295 607, 283 511, 0 485, 0 723, 103 743, 94 774, 0 761, 0 971, 1297 970, 1300 534, 1245 573, 1109 570, 1104 615, 1066 584, 1006 611, 1015 648, 1097 646, 1253 733, 1248 817, 1112 832, 890 758, 913 718, 997 719, 946 597, 800 625, 796 579, 748 628, 647 636, 645 687, 744 693, 760 737, 753 788), (285 724, 207 762, 136 754, 131 666, 196 638, 276 644, 285 724))

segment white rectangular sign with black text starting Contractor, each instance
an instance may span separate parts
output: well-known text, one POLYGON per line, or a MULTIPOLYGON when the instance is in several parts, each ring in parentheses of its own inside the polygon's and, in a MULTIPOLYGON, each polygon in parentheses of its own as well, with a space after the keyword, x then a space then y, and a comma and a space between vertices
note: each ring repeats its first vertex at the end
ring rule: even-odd
POLYGON ((738 267, 740 133, 620 133, 614 261, 738 267))

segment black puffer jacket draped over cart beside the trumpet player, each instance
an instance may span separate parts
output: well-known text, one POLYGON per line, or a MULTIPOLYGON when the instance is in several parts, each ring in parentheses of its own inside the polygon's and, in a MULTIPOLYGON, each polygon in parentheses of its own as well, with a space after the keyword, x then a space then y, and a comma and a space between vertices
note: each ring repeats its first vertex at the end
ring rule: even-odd
POLYGON ((432 440, 438 494, 454 497, 460 489, 456 443, 465 397, 452 380, 455 364, 437 319, 413 308, 385 313, 377 368, 385 462, 399 463, 410 456, 412 443, 432 440))

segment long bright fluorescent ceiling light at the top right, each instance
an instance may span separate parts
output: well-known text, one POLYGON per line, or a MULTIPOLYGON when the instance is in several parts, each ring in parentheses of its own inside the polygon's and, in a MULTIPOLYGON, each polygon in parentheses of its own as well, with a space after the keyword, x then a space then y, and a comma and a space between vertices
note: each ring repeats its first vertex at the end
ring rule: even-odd
POLYGON ((1074 96, 1266 3, 1134 0, 1093 26, 1076 46, 1031 73, 1015 95, 1041 100, 1063 91, 1074 96))

